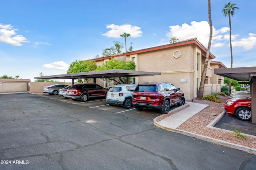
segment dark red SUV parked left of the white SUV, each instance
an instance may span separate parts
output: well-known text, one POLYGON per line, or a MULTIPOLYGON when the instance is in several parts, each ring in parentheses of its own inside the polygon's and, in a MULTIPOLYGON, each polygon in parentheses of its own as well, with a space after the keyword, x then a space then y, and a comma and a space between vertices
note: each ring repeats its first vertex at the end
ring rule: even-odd
POLYGON ((91 96, 103 96, 106 98, 108 89, 98 84, 74 84, 67 91, 67 98, 86 102, 91 96))

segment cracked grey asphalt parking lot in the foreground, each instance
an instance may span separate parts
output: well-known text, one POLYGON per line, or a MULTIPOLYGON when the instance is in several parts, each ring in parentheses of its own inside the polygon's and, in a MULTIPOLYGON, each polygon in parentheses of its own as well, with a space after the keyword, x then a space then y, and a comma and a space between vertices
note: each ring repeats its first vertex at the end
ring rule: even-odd
POLYGON ((0 95, 0 169, 245 169, 256 155, 160 129, 153 109, 0 95))

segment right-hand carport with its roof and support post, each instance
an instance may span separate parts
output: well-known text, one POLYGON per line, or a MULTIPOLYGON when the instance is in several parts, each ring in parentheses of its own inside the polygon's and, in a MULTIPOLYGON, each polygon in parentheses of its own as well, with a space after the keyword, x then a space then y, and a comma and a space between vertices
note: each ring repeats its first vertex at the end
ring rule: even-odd
POLYGON ((250 82, 252 96, 251 123, 256 123, 256 67, 214 68, 214 74, 237 81, 250 82))

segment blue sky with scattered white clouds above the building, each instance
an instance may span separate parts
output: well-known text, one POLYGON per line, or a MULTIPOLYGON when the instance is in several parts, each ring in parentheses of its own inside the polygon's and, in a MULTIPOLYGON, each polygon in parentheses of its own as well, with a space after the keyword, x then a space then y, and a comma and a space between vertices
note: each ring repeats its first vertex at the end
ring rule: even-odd
MULTIPOLYGON (((120 34, 130 33, 134 50, 196 37, 208 45, 207 0, 2 0, 0 5, 0 76, 34 81, 66 74, 72 61, 102 56, 120 34)), ((229 23, 212 0, 214 61, 230 67, 229 23)), ((256 66, 255 0, 232 0, 240 9, 231 18, 233 67, 256 66)), ((125 51, 125 47, 122 51, 125 51)))

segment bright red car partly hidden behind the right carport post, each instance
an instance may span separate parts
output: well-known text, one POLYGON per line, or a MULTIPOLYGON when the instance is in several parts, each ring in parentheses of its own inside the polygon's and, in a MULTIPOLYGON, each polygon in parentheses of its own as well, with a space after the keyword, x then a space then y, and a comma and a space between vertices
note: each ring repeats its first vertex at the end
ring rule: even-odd
POLYGON ((240 120, 248 121, 251 118, 252 97, 229 99, 224 105, 226 113, 236 115, 240 120))

